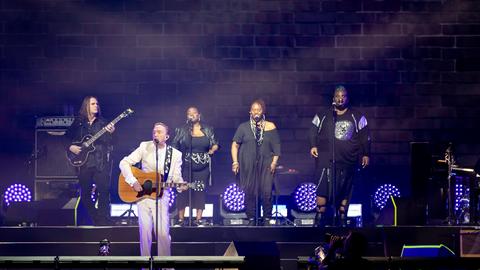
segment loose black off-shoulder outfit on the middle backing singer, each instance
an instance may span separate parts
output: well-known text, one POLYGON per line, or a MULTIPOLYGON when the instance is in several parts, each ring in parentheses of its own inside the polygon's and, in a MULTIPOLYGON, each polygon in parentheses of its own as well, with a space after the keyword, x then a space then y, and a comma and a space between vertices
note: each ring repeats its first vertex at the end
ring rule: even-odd
POLYGON ((280 156, 280 137, 277 129, 264 131, 262 137, 262 131, 252 126, 250 121, 240 124, 233 136, 233 141, 240 145, 239 184, 245 192, 247 217, 255 218, 255 198, 260 192, 264 218, 271 218, 273 174, 270 172, 270 165, 273 156, 280 156))

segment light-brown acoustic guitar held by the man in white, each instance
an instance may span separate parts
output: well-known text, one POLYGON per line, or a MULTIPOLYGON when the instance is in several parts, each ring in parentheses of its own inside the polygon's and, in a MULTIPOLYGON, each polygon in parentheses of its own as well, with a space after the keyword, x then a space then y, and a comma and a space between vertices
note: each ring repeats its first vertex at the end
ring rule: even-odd
MULTIPOLYGON (((138 182, 142 186, 143 190, 137 192, 131 187, 127 182, 125 182, 125 177, 120 173, 118 177, 118 195, 120 199, 126 203, 133 203, 139 201, 143 198, 152 198, 155 199, 157 196, 157 181, 155 177, 155 172, 146 173, 137 167, 131 167, 132 173, 137 178, 138 182)), ((172 183, 172 182, 163 182, 163 175, 159 175, 161 179, 160 188, 178 188, 180 186, 186 185, 187 187, 195 191, 203 191, 205 189, 205 184, 200 181, 195 181, 193 183, 172 183)), ((161 193, 161 192, 160 192, 161 193)))

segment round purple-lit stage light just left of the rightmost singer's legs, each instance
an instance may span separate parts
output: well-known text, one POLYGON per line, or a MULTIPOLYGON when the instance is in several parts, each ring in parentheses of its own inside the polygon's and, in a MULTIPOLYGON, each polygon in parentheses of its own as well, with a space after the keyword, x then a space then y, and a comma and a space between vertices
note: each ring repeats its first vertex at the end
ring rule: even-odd
POLYGON ((315 221, 317 186, 314 183, 301 183, 295 188, 293 199, 295 209, 291 210, 295 226, 312 226, 315 221))

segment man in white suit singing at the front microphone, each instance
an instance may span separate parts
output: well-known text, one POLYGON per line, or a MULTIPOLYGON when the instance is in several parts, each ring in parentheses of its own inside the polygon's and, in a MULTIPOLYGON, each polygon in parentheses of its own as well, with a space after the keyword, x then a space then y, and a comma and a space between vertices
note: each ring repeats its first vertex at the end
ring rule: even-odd
MULTIPOLYGON (((155 149, 158 153, 158 172, 162 174, 165 182, 183 183, 182 178, 182 153, 175 148, 167 145, 168 126, 164 123, 155 123, 152 130, 152 140, 141 142, 140 146, 130 155, 124 157, 120 161, 120 170, 132 189, 145 196, 140 197, 137 201, 138 207, 138 227, 140 230, 140 254, 142 256, 150 256, 152 245, 152 230, 156 232, 155 218, 155 195, 161 194, 158 202, 158 256, 170 256, 170 228, 168 215, 168 201, 170 198, 170 190, 165 188, 157 192, 155 188, 155 179, 142 181, 132 172, 132 165, 141 163, 142 171, 145 173, 154 172, 157 164, 155 149), (143 183, 141 183, 143 182, 143 183), (150 190, 150 191, 147 191, 150 190), (154 230, 155 229, 155 230, 154 230)), ((156 178, 156 177, 155 177, 156 178)), ((161 181, 161 176, 158 177, 161 181)), ((181 190, 185 190, 186 186, 181 185, 181 190)))

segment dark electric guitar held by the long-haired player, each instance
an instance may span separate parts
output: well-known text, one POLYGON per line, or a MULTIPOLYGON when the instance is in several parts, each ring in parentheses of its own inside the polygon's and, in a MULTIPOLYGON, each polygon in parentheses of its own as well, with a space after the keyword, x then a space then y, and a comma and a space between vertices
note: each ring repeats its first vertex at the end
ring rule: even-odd
MULTIPOLYGON (((118 121, 122 120, 123 118, 131 115, 133 113, 132 109, 126 109, 123 113, 121 113, 117 118, 113 119, 112 122, 108 123, 108 125, 115 125, 118 121)), ((107 126, 108 126, 107 125, 107 126)), ((80 146, 82 151, 78 153, 78 155, 72 153, 72 151, 67 150, 67 159, 72 166, 81 167, 87 161, 88 155, 95 151, 95 145, 93 144, 96 140, 102 137, 103 134, 107 132, 106 126, 103 127, 97 134, 95 135, 85 135, 80 141, 73 142, 73 145, 80 146)))

